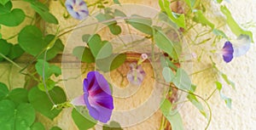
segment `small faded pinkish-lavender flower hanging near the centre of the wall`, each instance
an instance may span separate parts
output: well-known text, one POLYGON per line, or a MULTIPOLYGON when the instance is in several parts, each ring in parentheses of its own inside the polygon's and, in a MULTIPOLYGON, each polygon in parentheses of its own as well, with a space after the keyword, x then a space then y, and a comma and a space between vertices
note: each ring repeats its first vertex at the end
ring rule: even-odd
POLYGON ((131 84, 141 85, 144 76, 146 76, 146 73, 143 70, 142 65, 137 65, 135 63, 130 65, 130 71, 127 74, 127 79, 131 84))

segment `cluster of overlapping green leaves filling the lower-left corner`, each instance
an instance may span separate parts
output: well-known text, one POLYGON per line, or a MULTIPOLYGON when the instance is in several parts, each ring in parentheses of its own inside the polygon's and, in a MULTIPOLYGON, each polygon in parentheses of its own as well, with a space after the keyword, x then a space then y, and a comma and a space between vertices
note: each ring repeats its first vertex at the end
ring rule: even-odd
MULTIPOLYGON (((59 87, 52 89, 50 94, 55 97, 56 103, 66 100, 65 93, 59 87)), ((29 91, 25 88, 9 90, 5 84, 0 82, 0 125, 2 129, 44 130, 44 125, 35 120, 36 112, 53 120, 61 110, 51 109, 51 102, 39 88, 32 88, 29 91)), ((52 127, 50 130, 61 130, 61 128, 52 127)))

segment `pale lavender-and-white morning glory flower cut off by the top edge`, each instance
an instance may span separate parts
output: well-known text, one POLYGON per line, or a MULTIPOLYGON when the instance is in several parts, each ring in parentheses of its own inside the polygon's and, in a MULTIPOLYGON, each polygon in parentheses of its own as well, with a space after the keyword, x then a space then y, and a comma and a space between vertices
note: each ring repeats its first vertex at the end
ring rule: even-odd
POLYGON ((83 20, 89 15, 89 11, 84 0, 67 0, 65 3, 67 12, 78 20, 83 20))

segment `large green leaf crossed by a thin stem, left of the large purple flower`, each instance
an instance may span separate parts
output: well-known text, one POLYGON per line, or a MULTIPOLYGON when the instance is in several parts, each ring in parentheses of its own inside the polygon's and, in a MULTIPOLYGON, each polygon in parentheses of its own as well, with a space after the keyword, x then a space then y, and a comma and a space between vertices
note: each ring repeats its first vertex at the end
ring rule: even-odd
MULTIPOLYGON (((66 101, 66 95, 62 88, 55 87, 49 91, 50 97, 53 99, 55 104, 61 104, 66 101)), ((39 88, 32 88, 28 93, 28 99, 33 105, 35 110, 47 116, 53 120, 55 116, 58 116, 61 110, 52 110, 52 103, 50 102, 46 93, 39 90, 39 88)))

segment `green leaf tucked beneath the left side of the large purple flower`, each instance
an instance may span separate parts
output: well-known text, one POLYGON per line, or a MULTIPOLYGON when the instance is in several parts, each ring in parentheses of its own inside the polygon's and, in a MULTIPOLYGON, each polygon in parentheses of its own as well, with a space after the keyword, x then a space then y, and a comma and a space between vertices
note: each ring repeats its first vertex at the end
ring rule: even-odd
POLYGON ((89 114, 86 114, 87 116, 82 116, 78 110, 73 109, 72 110, 72 118, 73 122, 79 127, 80 130, 87 130, 91 127, 94 127, 96 125, 96 121, 92 120, 91 117, 88 119, 87 117, 89 114), (93 121, 93 122, 92 122, 93 121))

